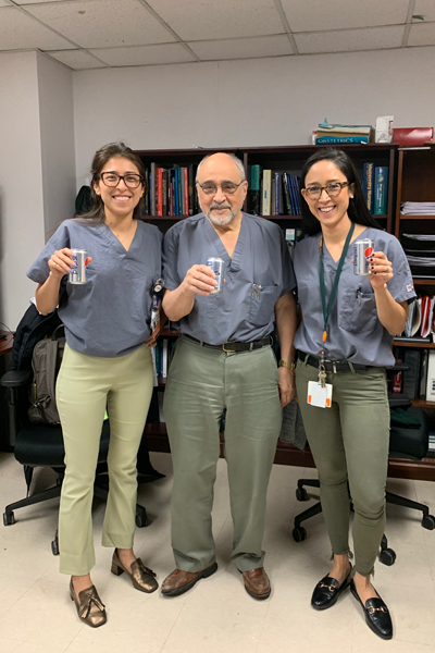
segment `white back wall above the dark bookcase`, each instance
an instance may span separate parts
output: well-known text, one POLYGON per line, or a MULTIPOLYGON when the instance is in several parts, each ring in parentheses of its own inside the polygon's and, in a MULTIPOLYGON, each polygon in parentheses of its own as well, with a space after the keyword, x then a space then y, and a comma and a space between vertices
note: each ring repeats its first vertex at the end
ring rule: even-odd
POLYGON ((435 47, 74 73, 77 186, 94 152, 299 145, 330 122, 435 124, 435 47))

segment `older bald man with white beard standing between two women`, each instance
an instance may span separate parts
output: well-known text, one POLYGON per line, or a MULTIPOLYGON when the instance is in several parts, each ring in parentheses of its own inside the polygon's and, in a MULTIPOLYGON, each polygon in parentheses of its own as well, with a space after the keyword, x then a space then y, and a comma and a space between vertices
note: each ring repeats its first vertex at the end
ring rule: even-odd
POLYGON ((176 569, 162 584, 177 596, 217 569, 211 528, 226 409, 225 458, 234 525, 232 559, 254 599, 271 584, 263 568, 265 497, 281 430, 294 395, 295 276, 281 229, 241 212, 248 189, 241 161, 227 153, 198 167, 202 212, 164 238, 163 309, 179 323, 164 415, 174 465, 172 546, 176 569), (223 259, 222 292, 206 264, 223 259), (276 320, 279 367, 271 348, 276 320))

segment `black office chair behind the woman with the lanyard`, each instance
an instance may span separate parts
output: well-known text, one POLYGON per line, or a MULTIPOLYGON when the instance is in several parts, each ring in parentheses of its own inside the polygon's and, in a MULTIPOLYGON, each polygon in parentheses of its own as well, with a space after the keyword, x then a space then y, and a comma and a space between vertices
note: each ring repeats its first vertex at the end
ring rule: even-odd
MULTIPOLYGON (((396 365, 388 368, 388 403, 390 408, 403 408, 407 415, 414 417, 419 420, 420 426, 413 428, 400 427, 397 423, 391 423, 389 431, 389 458, 393 459, 406 459, 406 460, 421 460, 427 454, 428 448, 428 421, 427 415, 422 408, 412 406, 412 403, 406 395, 394 394, 393 391, 393 375, 399 371, 406 371, 409 368, 402 365, 396 365)), ((296 498, 298 501, 307 501, 308 493, 304 485, 309 488, 320 488, 319 479, 299 479, 298 486, 296 490, 296 498)), ((420 510, 423 514, 421 525, 427 530, 435 528, 435 517, 430 514, 428 507, 417 501, 411 501, 405 496, 399 496, 393 492, 385 493, 387 503, 391 503, 413 510, 420 510)), ((302 542, 307 539, 307 530, 301 526, 302 521, 319 515, 322 512, 322 504, 318 502, 303 513, 300 513, 295 517, 293 538, 295 542, 302 542)), ((393 549, 388 547, 388 540, 383 535, 381 542, 380 562, 384 565, 394 565, 396 560, 396 553, 393 549)))

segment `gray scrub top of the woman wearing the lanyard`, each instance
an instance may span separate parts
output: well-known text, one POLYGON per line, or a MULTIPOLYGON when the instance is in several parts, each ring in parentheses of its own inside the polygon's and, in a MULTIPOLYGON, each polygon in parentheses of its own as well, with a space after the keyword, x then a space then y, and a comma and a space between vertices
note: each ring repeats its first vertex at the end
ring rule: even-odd
MULTIPOLYGON (((302 322, 295 336, 300 352, 320 356, 322 352, 323 311, 319 280, 319 244, 321 234, 300 241, 295 248, 295 273, 298 284, 302 322)), ((387 283, 396 301, 415 299, 414 286, 407 257, 400 243, 386 232, 371 226, 356 238, 372 238, 374 251, 384 251, 393 263, 394 276, 387 283)), ((381 324, 372 285, 366 276, 353 274, 352 243, 349 245, 334 306, 327 326, 325 357, 336 360, 384 367, 394 365, 393 335, 381 324)), ((323 246, 326 301, 331 296, 338 261, 323 246)))

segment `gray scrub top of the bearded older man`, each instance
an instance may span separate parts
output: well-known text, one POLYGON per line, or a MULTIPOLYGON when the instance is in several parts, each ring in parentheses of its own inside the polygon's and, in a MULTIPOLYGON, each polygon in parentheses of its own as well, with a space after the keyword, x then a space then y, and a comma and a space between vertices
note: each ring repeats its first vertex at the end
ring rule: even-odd
POLYGON ((203 213, 186 218, 164 236, 165 287, 177 288, 189 268, 206 264, 209 257, 224 261, 222 293, 209 297, 195 295, 194 308, 178 323, 181 332, 211 345, 228 341, 252 342, 271 333, 276 300, 296 285, 288 248, 278 225, 243 213, 231 259, 203 213), (260 291, 258 286, 261 286, 260 291))

